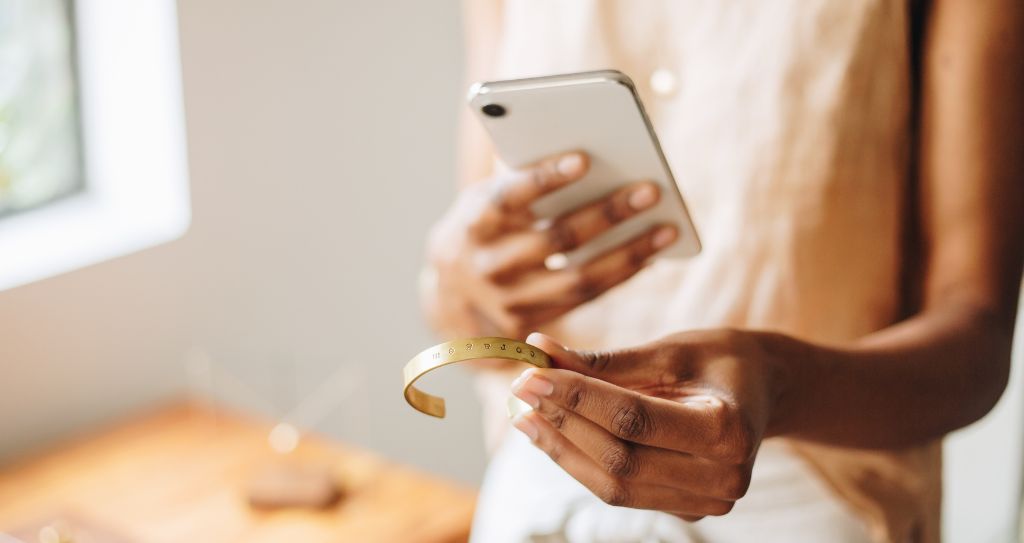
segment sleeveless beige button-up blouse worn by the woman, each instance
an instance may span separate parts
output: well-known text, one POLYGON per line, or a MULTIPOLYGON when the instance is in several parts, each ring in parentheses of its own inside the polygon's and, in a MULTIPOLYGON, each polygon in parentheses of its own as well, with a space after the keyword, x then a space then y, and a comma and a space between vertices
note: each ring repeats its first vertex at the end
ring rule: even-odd
MULTIPOLYGON (((508 0, 487 77, 630 75, 703 244, 697 257, 657 261, 545 331, 588 348, 720 326, 829 343, 895 322, 908 9, 886 0, 508 0)), ((788 445, 878 541, 938 540, 939 444, 788 445)))

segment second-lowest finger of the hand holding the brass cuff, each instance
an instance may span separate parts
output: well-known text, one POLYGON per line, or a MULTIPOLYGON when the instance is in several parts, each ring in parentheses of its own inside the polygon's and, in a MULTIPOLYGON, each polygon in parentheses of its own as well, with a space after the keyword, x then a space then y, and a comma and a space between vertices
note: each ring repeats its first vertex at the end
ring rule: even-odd
POLYGON ((624 442, 553 402, 542 400, 535 410, 616 478, 674 487, 731 501, 741 498, 750 486, 750 470, 745 465, 722 464, 678 451, 624 442))

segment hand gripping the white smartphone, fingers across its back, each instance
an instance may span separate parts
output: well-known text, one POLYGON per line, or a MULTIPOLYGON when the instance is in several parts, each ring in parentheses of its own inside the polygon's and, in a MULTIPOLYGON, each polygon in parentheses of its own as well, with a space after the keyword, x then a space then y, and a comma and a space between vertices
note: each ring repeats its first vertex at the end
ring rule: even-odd
POLYGON ((436 272, 424 292, 446 335, 522 338, 626 281, 675 241, 674 226, 653 226, 580 265, 548 269, 571 251, 657 203, 653 182, 627 184, 538 227, 530 204, 581 179, 586 155, 569 153, 474 183, 435 224, 428 259, 436 272))

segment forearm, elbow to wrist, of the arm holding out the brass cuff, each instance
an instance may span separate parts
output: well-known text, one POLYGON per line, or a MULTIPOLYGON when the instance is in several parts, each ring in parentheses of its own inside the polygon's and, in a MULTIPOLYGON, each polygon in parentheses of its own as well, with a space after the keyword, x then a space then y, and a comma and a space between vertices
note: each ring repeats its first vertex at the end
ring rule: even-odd
POLYGON ((770 431, 858 448, 939 438, 995 405, 1012 335, 1012 317, 950 306, 839 348, 775 340, 786 384, 770 431))

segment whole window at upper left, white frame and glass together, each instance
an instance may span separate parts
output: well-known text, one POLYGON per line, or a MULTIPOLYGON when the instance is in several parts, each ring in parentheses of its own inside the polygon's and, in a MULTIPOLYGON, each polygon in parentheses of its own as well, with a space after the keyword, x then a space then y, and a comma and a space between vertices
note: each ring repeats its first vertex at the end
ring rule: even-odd
POLYGON ((0 0, 0 290, 180 236, 173 0, 0 0))

